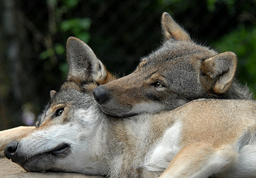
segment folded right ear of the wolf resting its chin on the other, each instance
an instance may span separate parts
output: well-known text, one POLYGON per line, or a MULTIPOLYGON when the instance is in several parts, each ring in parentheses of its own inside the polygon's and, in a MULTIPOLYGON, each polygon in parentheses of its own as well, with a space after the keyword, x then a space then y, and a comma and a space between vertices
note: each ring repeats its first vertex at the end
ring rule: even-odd
POLYGON ((214 93, 223 94, 229 90, 236 73, 238 59, 233 52, 223 52, 203 61, 201 71, 211 78, 214 93))

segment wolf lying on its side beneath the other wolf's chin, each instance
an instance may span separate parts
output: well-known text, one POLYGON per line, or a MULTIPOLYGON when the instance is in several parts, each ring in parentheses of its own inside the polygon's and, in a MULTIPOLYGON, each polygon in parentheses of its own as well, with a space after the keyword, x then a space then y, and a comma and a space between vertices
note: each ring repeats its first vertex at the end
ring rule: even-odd
POLYGON ((255 177, 256 102, 201 99, 156 114, 117 118, 92 91, 115 79, 81 40, 67 42, 68 80, 50 91, 36 128, 10 142, 27 171, 108 177, 255 177))

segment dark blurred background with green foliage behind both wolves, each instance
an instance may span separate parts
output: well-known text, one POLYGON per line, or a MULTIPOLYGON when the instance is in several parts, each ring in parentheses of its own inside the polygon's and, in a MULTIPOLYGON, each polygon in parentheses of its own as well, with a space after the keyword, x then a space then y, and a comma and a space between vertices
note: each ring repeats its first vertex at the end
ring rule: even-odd
POLYGON ((122 77, 160 46, 164 11, 196 42, 235 52, 236 77, 256 91, 256 0, 1 0, 0 130, 33 124, 65 81, 69 36, 122 77))

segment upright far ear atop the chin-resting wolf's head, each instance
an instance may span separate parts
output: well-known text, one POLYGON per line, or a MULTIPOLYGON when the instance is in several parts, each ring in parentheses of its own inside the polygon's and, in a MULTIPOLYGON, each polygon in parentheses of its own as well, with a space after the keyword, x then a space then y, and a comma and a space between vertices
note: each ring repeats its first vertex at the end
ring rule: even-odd
POLYGON ((177 41, 192 42, 189 34, 167 12, 163 12, 162 15, 162 29, 165 40, 175 39, 177 41))

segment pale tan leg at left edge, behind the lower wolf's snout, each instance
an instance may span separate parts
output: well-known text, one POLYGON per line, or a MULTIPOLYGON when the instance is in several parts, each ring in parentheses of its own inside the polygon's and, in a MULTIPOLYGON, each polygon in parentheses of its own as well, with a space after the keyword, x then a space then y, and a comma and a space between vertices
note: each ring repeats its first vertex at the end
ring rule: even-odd
POLYGON ((0 131, 0 151, 4 151, 4 148, 14 139, 25 134, 26 132, 34 129, 34 126, 19 126, 17 128, 0 131))

